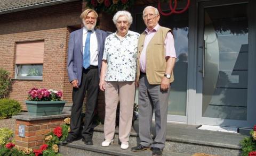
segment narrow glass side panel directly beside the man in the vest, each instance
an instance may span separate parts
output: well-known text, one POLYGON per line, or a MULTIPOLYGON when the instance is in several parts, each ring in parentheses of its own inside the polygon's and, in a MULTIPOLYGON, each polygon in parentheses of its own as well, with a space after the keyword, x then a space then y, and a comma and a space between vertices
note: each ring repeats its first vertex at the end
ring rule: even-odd
POLYGON ((168 114, 186 116, 187 68, 188 68, 188 11, 182 14, 161 16, 161 25, 171 28, 177 59, 174 67, 174 82, 171 84, 168 114), (171 21, 171 22, 170 22, 171 21))

